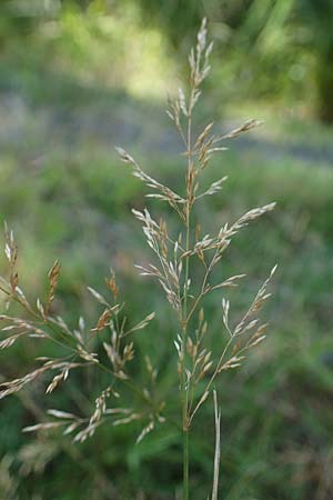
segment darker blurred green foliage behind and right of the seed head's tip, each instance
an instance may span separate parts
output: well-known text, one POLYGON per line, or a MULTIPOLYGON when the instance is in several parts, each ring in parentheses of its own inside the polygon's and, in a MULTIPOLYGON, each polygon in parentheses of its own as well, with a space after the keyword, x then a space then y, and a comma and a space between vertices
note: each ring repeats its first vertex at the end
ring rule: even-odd
POLYGON ((304 100, 312 94, 323 121, 333 121, 331 0, 188 0, 163 6, 141 0, 141 4, 176 47, 186 47, 200 19, 209 18, 220 38, 220 77, 233 79, 234 99, 240 94, 295 99, 301 90, 304 100))

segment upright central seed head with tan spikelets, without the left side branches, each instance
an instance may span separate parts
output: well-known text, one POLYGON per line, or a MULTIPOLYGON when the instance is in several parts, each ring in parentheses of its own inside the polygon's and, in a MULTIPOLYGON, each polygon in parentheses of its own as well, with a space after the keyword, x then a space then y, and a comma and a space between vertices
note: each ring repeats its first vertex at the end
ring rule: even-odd
POLYGON ((164 220, 157 222, 148 209, 144 209, 142 212, 133 210, 134 216, 143 224, 148 246, 157 257, 157 263, 149 263, 144 267, 137 266, 137 268, 141 271, 141 274, 158 279, 167 294, 168 301, 176 311, 179 320, 181 333, 176 333, 174 346, 178 352, 178 372, 184 408, 182 423, 184 429, 190 427, 194 414, 206 400, 216 376, 222 371, 240 367, 245 359, 246 351, 258 346, 265 338, 266 324, 260 324, 259 318, 254 318, 254 316, 270 297, 270 293, 266 293, 266 288, 275 270, 274 268, 270 278, 259 290, 249 310, 234 328, 230 326, 229 321, 230 303, 225 299, 222 300, 223 326, 228 333, 228 341, 223 351, 218 356, 215 352, 206 349, 204 343, 208 322, 204 320, 201 307, 203 298, 212 291, 236 287, 239 281, 244 278, 243 273, 239 273, 216 280, 213 271, 230 246, 232 238, 250 222, 272 211, 275 207, 275 203, 269 203, 249 210, 235 222, 231 224, 225 222, 214 237, 209 233, 200 237, 200 224, 196 224, 195 228, 191 227, 190 214, 194 203, 206 196, 220 193, 226 181, 226 177, 223 176, 213 181, 208 189, 200 192, 200 177, 213 156, 226 149, 222 144, 223 141, 234 139, 262 123, 259 120, 251 119, 231 132, 215 134, 213 133, 214 123, 209 122, 201 129, 196 138, 192 140, 192 112, 200 98, 202 82, 210 72, 209 59, 212 48, 213 44, 208 44, 206 41, 206 20, 203 19, 198 33, 196 46, 189 56, 189 92, 180 88, 175 99, 170 97, 168 99, 167 113, 174 122, 185 147, 183 152, 188 163, 184 187, 185 196, 180 197, 175 194, 168 187, 147 176, 132 157, 122 149, 118 149, 121 159, 132 164, 134 176, 158 191, 152 197, 167 200, 175 209, 182 222, 184 222, 184 229, 180 236, 172 238, 169 236, 164 220), (182 241, 185 242, 183 246, 181 244, 182 241), (173 259, 170 258, 172 250, 173 259), (204 269, 201 282, 195 279, 195 271, 190 267, 193 258, 198 258, 204 269), (196 291, 193 283, 198 286, 196 291), (196 311, 200 311, 199 322, 193 331, 191 320, 196 311), (202 389, 202 383, 205 380, 208 382, 203 384, 204 389, 202 389))

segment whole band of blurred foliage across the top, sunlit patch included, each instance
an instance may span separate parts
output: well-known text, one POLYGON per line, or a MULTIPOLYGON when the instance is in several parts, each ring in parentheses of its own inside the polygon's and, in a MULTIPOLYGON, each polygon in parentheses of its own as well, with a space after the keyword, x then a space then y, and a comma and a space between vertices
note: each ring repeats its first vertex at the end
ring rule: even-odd
POLYGON ((23 38, 43 64, 75 60, 88 81, 102 78, 139 93, 150 83, 161 94, 168 71, 158 61, 171 50, 182 61, 206 16, 216 40, 215 80, 224 82, 220 98, 287 99, 331 122, 332 9, 331 0, 3 0, 0 44, 4 51, 23 38), (135 82, 139 61, 144 82, 135 82))

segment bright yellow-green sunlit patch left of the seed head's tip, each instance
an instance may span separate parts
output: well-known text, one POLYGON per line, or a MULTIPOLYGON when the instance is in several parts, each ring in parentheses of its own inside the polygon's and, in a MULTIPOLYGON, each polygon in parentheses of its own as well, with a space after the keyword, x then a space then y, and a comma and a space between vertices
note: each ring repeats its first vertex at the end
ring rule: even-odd
POLYGON ((74 71, 83 84, 122 88, 153 100, 174 90, 175 64, 167 39, 143 24, 138 7, 108 13, 70 7, 56 24, 47 23, 41 34, 52 42, 61 69, 74 71))

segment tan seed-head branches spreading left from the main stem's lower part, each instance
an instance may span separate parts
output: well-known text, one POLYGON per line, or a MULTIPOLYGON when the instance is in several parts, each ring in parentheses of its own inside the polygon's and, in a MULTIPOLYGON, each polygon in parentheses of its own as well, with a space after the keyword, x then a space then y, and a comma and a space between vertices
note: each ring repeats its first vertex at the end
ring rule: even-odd
MULTIPOLYGON (((163 229, 163 224, 161 224, 160 228, 163 229)), ((163 233, 165 234, 165 229, 163 229, 163 233)), ((59 356, 54 359, 49 357, 37 358, 36 361, 41 363, 39 368, 20 378, 0 383, 0 399, 20 391, 36 379, 56 371, 56 374, 52 376, 51 381, 46 388, 46 393, 50 394, 61 383, 64 383, 68 380, 71 370, 94 366, 98 369, 105 371, 112 382, 95 399, 95 406, 91 417, 81 418, 61 410, 50 410, 49 414, 57 418, 56 422, 41 422, 26 428, 24 431, 49 430, 64 426, 64 433, 77 431, 74 441, 84 441, 87 438, 93 436, 95 429, 104 422, 105 416, 127 413, 127 419, 134 420, 139 418, 139 414, 140 419, 145 419, 147 412, 141 414, 134 412, 134 410, 128 412, 128 410, 123 411, 122 409, 117 408, 113 408, 112 411, 107 409, 108 398, 111 394, 118 397, 113 387, 115 383, 120 382, 125 384, 127 390, 134 392, 141 398, 149 408, 149 424, 145 426, 141 432, 139 439, 139 441, 141 441, 143 437, 153 429, 155 419, 158 419, 159 422, 163 422, 163 417, 161 416, 163 404, 161 402, 155 403, 152 401, 149 391, 137 388, 135 383, 131 380, 131 374, 128 371, 127 366, 133 360, 135 351, 133 340, 130 339, 128 341, 128 338, 134 332, 144 329, 153 320, 154 312, 148 314, 134 326, 128 327, 127 318, 122 314, 124 304, 118 302, 119 287, 114 271, 111 269, 110 278, 105 279, 107 287, 111 292, 111 300, 107 299, 91 287, 88 287, 88 290, 94 300, 103 307, 95 326, 90 330, 87 329, 84 319, 80 317, 78 328, 71 329, 63 318, 53 316, 51 312, 60 277, 59 261, 57 260, 53 263, 48 273, 49 291, 44 302, 46 306, 42 304, 40 299, 37 299, 36 306, 33 306, 27 300, 23 291, 17 286, 18 278, 16 264, 18 249, 14 244, 13 233, 12 231, 9 231, 7 227, 4 236, 6 254, 9 260, 9 280, 0 277, 0 291, 7 298, 8 307, 10 301, 17 302, 29 318, 26 319, 10 314, 0 314, 0 323, 2 323, 0 331, 4 336, 4 338, 0 340, 0 349, 8 349, 19 339, 28 338, 52 342, 54 346, 61 348, 61 352, 63 352, 63 350, 67 351, 67 354, 59 356), (104 364, 100 354, 93 352, 90 347, 91 340, 93 338, 98 339, 105 331, 109 331, 110 341, 101 341, 101 343, 104 347, 110 363, 109 366, 104 364), (59 421, 59 419, 61 419, 61 421, 59 421)), ((154 371, 154 378, 157 372, 154 371)), ((119 421, 119 423, 121 422, 119 421)))

